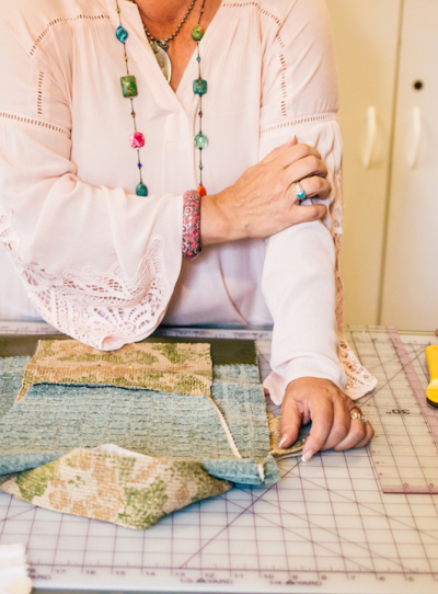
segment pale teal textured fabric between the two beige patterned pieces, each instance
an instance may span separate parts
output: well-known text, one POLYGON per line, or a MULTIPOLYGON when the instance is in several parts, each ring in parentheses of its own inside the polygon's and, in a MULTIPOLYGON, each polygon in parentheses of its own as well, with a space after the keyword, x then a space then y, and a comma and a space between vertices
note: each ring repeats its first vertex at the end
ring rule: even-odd
POLYGON ((264 484, 277 482, 262 386, 215 380, 211 396, 243 459, 231 452, 205 397, 107 386, 33 386, 0 420, 0 475, 42 466, 74 447, 114 443, 153 457, 199 461, 210 475, 233 482, 258 486, 263 475, 264 484))

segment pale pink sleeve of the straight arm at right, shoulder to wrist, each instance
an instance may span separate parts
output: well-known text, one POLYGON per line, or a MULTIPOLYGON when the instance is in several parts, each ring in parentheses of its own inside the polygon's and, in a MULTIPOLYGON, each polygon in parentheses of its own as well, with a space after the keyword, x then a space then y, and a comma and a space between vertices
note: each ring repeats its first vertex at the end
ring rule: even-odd
MULTIPOLYGON (((316 147, 338 198, 342 138, 336 121, 337 79, 323 0, 292 0, 266 45, 263 69, 261 152, 297 135, 316 147)), ((325 203, 327 204, 327 203, 325 203)), ((335 262, 331 219, 293 226, 266 241, 263 292, 274 319, 265 382, 279 403, 300 377, 332 380, 345 389, 336 324, 335 262)))

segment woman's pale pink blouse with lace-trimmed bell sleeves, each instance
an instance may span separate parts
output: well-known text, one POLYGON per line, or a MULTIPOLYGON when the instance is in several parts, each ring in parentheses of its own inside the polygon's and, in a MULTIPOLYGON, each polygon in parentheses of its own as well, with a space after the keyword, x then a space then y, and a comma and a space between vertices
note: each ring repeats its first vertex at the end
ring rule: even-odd
POLYGON ((194 55, 175 94, 137 5, 119 5, 149 197, 135 195, 115 0, 2 3, 0 316, 39 315, 102 350, 148 336, 164 316, 177 324, 274 322, 267 386, 277 402, 297 377, 324 377, 345 389, 345 372, 349 393, 362 396, 376 380, 342 335, 342 139, 324 1, 219 8, 200 42, 208 81, 204 185, 219 192, 297 135, 318 147, 330 169, 332 217, 266 241, 208 248, 184 264, 182 194, 198 185, 197 62, 194 55))

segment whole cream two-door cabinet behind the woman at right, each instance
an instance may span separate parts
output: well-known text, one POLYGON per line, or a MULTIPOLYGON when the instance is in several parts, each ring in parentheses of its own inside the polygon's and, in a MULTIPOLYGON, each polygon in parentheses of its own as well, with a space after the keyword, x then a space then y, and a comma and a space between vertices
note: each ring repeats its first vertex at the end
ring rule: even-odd
POLYGON ((438 0, 326 2, 344 135, 346 321, 434 330, 438 0))

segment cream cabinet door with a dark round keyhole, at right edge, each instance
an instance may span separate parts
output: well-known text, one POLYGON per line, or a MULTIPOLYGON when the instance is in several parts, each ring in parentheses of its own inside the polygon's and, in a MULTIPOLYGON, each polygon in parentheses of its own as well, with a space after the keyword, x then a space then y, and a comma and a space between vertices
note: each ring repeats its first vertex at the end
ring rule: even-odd
POLYGON ((438 0, 404 0, 401 39, 381 320, 400 329, 434 330, 438 328, 438 0))

